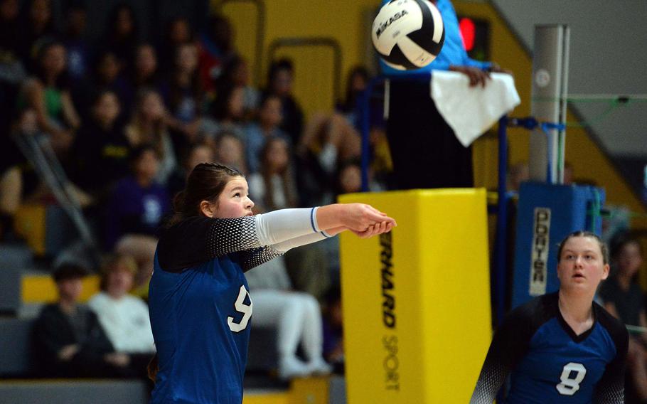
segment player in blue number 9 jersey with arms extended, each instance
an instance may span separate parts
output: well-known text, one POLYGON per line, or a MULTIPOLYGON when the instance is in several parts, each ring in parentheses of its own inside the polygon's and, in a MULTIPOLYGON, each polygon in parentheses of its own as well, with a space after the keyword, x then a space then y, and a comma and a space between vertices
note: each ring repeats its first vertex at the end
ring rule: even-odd
POLYGON ((198 164, 176 196, 149 288, 157 349, 151 403, 240 404, 252 316, 243 272, 343 230, 367 238, 395 225, 361 203, 252 216, 247 191, 240 171, 198 164))

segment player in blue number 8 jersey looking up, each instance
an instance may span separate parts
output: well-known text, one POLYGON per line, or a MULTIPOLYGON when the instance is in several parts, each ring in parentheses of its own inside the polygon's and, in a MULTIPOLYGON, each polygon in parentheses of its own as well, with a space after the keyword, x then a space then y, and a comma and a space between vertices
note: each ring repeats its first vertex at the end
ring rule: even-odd
POLYGON ((624 403, 629 334, 593 302, 609 275, 604 243, 568 235, 557 250, 560 290, 514 309, 496 331, 471 398, 491 404, 510 375, 503 403, 624 403))

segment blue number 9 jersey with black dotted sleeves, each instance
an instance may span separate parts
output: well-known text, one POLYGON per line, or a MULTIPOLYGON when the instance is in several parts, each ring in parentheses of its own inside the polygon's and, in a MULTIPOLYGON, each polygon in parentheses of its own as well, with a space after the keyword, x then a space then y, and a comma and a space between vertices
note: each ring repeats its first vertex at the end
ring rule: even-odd
POLYGON ((254 220, 189 218, 161 235, 149 287, 151 403, 242 403, 252 316, 243 272, 279 255, 258 247, 254 220))

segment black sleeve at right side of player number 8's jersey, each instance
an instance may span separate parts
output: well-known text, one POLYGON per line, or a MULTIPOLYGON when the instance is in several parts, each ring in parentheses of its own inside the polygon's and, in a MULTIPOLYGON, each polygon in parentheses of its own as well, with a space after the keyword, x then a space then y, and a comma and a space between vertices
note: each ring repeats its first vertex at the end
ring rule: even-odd
POLYGON ((597 303, 593 304, 598 323, 609 331, 611 339, 616 344, 616 357, 604 370, 595 387, 593 402, 604 404, 624 403, 624 370, 629 349, 629 332, 626 327, 611 316, 609 312, 597 303))

